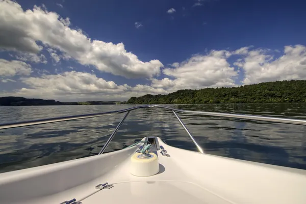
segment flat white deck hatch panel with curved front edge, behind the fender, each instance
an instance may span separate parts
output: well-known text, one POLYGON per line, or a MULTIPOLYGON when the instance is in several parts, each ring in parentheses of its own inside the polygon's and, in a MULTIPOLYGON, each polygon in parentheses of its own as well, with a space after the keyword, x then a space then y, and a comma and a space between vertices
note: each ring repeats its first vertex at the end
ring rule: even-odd
POLYGON ((219 203, 226 200, 186 182, 142 181, 115 184, 109 190, 101 190, 84 199, 82 203, 219 203))

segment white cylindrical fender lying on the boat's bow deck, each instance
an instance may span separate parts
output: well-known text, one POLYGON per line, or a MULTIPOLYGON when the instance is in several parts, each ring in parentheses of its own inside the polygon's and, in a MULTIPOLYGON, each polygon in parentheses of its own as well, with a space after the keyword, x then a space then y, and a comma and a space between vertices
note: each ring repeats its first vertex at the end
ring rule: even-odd
POLYGON ((141 153, 135 153, 131 157, 130 172, 137 177, 149 177, 159 172, 158 157, 154 153, 149 153, 150 157, 141 157, 141 153))

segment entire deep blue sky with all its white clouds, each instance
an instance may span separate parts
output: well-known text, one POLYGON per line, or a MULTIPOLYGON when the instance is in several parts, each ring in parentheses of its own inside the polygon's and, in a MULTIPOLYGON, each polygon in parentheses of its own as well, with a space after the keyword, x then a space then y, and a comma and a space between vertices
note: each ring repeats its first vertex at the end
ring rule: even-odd
POLYGON ((0 96, 126 100, 306 78, 304 1, 0 4, 0 96))

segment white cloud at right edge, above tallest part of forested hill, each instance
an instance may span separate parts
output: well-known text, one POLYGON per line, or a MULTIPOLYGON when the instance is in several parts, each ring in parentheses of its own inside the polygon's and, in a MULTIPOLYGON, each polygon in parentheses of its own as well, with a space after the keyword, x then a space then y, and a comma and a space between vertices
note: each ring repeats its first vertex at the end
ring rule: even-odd
MULTIPOLYGON (((237 51, 237 50, 236 50, 237 51)), ((244 84, 276 80, 306 79, 306 47, 285 46, 284 55, 275 59, 269 50, 251 50, 235 65, 245 72, 244 84)))

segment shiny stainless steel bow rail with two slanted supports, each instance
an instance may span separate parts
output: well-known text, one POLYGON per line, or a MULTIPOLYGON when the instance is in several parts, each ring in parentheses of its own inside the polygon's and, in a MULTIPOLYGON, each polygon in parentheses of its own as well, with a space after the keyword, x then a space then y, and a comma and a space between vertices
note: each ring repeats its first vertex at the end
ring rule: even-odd
POLYGON ((108 138, 106 143, 104 144, 103 148, 99 152, 99 154, 103 154, 105 149, 108 147, 109 143, 112 141, 114 136, 116 135, 117 131, 121 127, 122 123, 126 119, 127 115, 129 115, 130 111, 136 110, 139 108, 165 108, 168 110, 171 110, 173 114, 175 115, 176 119, 180 122, 180 124, 183 126, 193 143, 196 145, 198 151, 200 153, 203 153, 203 150, 198 145, 198 143, 195 141, 183 121, 180 119, 179 115, 177 115, 177 112, 181 113, 190 113, 190 114, 196 114, 196 115, 207 115, 207 116, 219 116, 224 118, 234 118, 234 119, 243 119, 243 120, 256 120, 256 121, 267 121, 267 122, 276 122, 276 123, 287 123, 287 124, 295 124, 295 125, 306 125, 306 120, 296 120, 296 119, 285 119, 285 118, 272 118, 272 117, 265 117, 265 116, 256 116, 256 115, 244 115, 244 114, 232 114, 232 113, 221 113, 221 112, 203 112, 203 111, 192 111, 192 110, 182 110, 182 109, 176 109, 171 108, 168 106, 162 106, 162 105, 140 105, 135 106, 132 108, 126 108, 123 110, 115 110, 115 111, 108 111, 108 112, 101 112, 101 113, 91 113, 91 114, 81 114, 81 115, 71 115, 71 116, 63 116, 58 118, 49 118, 49 119, 39 119, 39 120, 32 120, 32 121, 25 121, 25 122, 16 122, 16 123, 7 123, 7 124, 0 124, 0 130, 1 129, 7 129, 7 128, 17 128, 17 127, 24 127, 24 126, 31 126, 31 125, 40 125, 40 124, 46 124, 46 123, 55 123, 55 122, 61 122, 61 121, 71 121, 71 120, 78 120, 78 119, 87 119, 87 118, 94 118, 104 115, 110 115, 110 114, 116 114, 116 113, 125 113, 123 118, 121 119, 120 123, 114 130, 114 132, 111 134, 111 136, 108 138))

